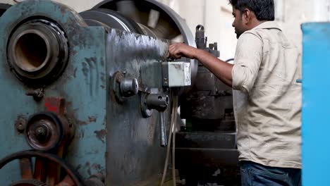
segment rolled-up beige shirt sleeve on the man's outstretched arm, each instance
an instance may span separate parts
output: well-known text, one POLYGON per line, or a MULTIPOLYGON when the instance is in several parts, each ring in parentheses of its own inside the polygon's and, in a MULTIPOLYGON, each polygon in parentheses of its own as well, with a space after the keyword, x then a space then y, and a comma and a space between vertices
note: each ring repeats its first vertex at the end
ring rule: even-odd
POLYGON ((262 61, 262 39, 250 32, 240 35, 236 46, 233 89, 249 93, 257 78, 262 61))

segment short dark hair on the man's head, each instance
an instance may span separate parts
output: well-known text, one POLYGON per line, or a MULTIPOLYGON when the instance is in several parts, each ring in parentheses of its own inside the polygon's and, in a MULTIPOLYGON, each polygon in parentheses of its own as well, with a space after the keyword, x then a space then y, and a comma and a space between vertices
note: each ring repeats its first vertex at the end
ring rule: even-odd
POLYGON ((245 8, 254 12, 257 20, 275 20, 274 0, 229 0, 229 2, 240 12, 245 8))

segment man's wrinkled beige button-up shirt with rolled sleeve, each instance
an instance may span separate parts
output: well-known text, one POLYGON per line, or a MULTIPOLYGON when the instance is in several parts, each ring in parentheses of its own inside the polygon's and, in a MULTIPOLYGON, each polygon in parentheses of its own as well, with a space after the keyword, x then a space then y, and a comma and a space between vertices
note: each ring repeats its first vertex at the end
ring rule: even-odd
POLYGON ((301 168, 300 52, 265 22, 238 39, 233 66, 240 161, 301 168))

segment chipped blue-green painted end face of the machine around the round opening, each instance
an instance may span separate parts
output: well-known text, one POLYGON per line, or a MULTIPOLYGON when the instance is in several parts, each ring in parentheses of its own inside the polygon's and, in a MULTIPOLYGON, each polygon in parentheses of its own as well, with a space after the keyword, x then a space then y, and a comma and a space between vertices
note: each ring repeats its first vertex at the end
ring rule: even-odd
MULTIPOLYGON (((94 173, 105 173, 106 144, 106 32, 102 27, 87 27, 78 13, 53 1, 23 1, 9 8, 0 18, 0 101, 6 109, 0 114, 2 129, 0 159, 16 151, 30 149, 24 135, 16 128, 19 116, 29 118, 34 113, 47 110, 44 99, 35 101, 25 92, 27 87, 11 73, 7 64, 6 45, 13 29, 31 16, 54 20, 69 38, 69 61, 63 75, 56 82, 44 87, 44 97, 64 97, 67 104, 64 113, 68 122, 75 125, 76 135, 66 159, 82 175, 88 178, 94 173), (103 132, 104 133, 104 132, 103 132)), ((1 185, 18 180, 17 163, 0 170, 1 185), (11 173, 10 175, 6 173, 11 173)))

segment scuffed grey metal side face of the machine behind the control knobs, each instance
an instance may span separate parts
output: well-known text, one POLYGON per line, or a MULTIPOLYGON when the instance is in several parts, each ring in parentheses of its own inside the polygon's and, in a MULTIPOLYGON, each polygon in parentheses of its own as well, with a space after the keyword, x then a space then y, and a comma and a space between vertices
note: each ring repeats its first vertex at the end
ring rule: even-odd
MULTIPOLYGON (((140 70, 165 61, 168 42, 118 30, 111 30, 107 42, 109 75, 126 71, 142 87, 153 89, 155 93, 163 92, 160 87, 142 81, 140 70)), ((157 78, 149 74, 149 79, 157 78)), ((118 103, 112 94, 107 106, 106 184, 133 185, 161 174, 166 149, 159 145, 159 114, 154 112, 150 118, 143 118, 140 96, 118 103)), ((164 116, 166 126, 169 126, 169 109, 164 116)))

